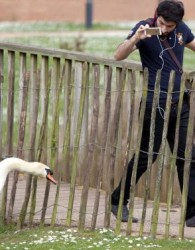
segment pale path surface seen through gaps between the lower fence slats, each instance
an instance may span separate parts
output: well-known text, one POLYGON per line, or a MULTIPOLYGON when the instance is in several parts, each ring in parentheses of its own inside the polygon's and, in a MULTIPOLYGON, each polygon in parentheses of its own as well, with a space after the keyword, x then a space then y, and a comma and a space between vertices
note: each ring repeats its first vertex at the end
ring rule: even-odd
MULTIPOLYGON (((9 204, 9 199, 10 199, 10 190, 12 187, 12 177, 13 176, 11 175, 9 179, 9 185, 8 185, 8 197, 7 197, 8 204, 9 204)), ((37 184, 36 209, 35 209, 35 216, 34 216, 35 224, 40 223, 40 219, 42 216, 42 206, 43 206, 43 200, 44 200, 44 194, 45 194, 45 185, 46 185, 46 182, 39 178, 38 184, 37 184)), ((26 186, 25 177, 21 176, 17 183, 15 205, 14 205, 14 210, 13 210, 13 220, 15 221, 18 221, 18 217, 21 211, 21 206, 24 201, 25 186, 26 186)), ((49 195, 46 216, 45 216, 45 224, 48 224, 48 225, 51 223, 55 195, 56 195, 56 188, 57 186, 55 185, 50 186, 50 195, 49 195)), ((56 224, 61 225, 61 226, 64 226, 66 224, 68 200, 69 200, 69 194, 70 194, 69 192, 70 192, 70 185, 61 182, 59 200, 57 203, 57 215, 56 215, 56 224)), ((73 211, 72 211, 72 220, 71 220, 72 227, 78 227, 81 193, 82 193, 82 187, 76 186, 73 211)), ((0 207, 1 207, 1 199, 2 197, 0 195, 0 207)), ((90 188, 89 193, 88 193, 87 212, 86 212, 86 221, 85 221, 86 228, 91 227, 94 203, 95 203, 95 189, 90 188)), ((30 209, 29 207, 30 207, 30 203, 28 206, 27 213, 29 213, 29 209, 30 209)), ((150 235, 151 228, 152 228, 152 213, 153 213, 152 201, 148 201, 146 210, 147 211, 146 211, 143 235, 148 236, 150 235)), ((134 216, 138 218, 139 222, 132 224, 131 235, 139 236, 142 212, 143 212, 143 199, 135 197, 134 216)), ((174 237, 174 238, 179 238, 180 213, 181 213, 180 207, 179 206, 173 207, 170 213, 171 214, 170 214, 169 236, 174 237)), ((165 231, 167 228, 166 214, 167 214, 166 205, 164 203, 160 203, 158 226, 157 226, 157 231, 156 231, 157 238, 162 238, 165 236, 165 231)), ((28 223, 28 215, 26 216, 27 223, 28 223)), ((96 228, 104 227, 104 217, 105 217, 105 192, 102 190, 100 194, 100 204, 98 208, 96 228)), ((116 218, 111 214, 110 228, 114 230, 115 227, 116 227, 116 218)), ((121 223, 121 233, 125 233, 126 229, 127 229, 127 223, 121 223)), ((195 232, 195 228, 185 227, 184 238, 194 239, 195 237, 194 232, 195 232)))

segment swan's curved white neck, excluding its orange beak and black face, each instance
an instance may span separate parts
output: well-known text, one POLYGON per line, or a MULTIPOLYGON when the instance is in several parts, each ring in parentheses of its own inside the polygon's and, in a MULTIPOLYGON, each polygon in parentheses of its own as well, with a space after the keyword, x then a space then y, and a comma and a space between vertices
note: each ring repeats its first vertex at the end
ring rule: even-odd
POLYGON ((27 161, 24 161, 15 157, 7 158, 1 161, 0 162, 0 192, 3 189, 3 186, 6 181, 6 177, 10 171, 18 170, 21 172, 27 172, 30 174, 39 175, 40 173, 37 171, 37 168, 35 168, 37 164, 41 164, 41 163, 27 162, 27 161))

